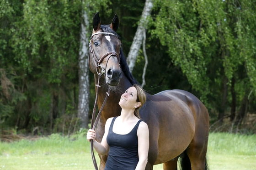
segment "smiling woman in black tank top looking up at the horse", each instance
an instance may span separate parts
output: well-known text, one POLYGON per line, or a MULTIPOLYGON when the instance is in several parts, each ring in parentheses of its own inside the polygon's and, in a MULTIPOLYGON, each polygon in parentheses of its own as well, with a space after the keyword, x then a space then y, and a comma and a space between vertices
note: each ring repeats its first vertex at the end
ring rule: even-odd
POLYGON ((146 102, 146 93, 137 84, 128 88, 120 98, 121 115, 107 119, 101 143, 88 130, 87 140, 94 140, 94 149, 106 155, 105 170, 145 170, 149 151, 148 125, 139 119, 139 108, 146 102))

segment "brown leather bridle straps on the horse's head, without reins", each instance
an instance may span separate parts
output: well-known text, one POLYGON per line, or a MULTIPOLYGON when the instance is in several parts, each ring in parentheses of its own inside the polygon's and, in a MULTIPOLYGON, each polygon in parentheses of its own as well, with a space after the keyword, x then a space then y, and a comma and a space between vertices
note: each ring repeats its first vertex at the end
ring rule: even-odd
MULTIPOLYGON (((101 62, 104 60, 104 58, 107 57, 107 62, 108 62, 108 60, 109 60, 109 58, 110 58, 111 56, 115 56, 115 57, 117 57, 117 61, 118 61, 118 63, 120 64, 120 56, 119 56, 119 54, 118 54, 117 52, 107 52, 105 55, 103 55, 103 56, 98 60, 97 57, 96 57, 96 55, 95 55, 95 52, 93 51, 93 48, 92 48, 92 46, 91 46, 91 39, 92 39, 93 36, 95 36, 95 35, 97 35, 97 34, 107 34, 107 35, 112 35, 112 36, 116 36, 116 37, 117 37, 117 35, 115 35, 115 34, 113 34, 113 33, 110 33, 110 32, 96 32, 96 33, 94 33, 94 34, 91 35, 90 43, 89 43, 89 55, 88 55, 89 59, 88 59, 88 62, 89 62, 89 66, 90 66, 90 53, 91 53, 91 54, 92 54, 92 57, 93 57, 93 61, 95 62, 95 65, 96 65, 96 72, 97 72, 98 75, 100 75, 100 74, 104 74, 104 73, 105 73, 105 69, 100 65, 101 62), (99 71, 98 71, 98 69, 99 69, 99 71), (101 70, 101 71, 100 71, 100 70, 101 70)), ((118 37, 117 37, 117 38, 118 38, 118 37)), ((106 67, 105 67, 105 68, 107 68, 107 62, 106 62, 106 67)))

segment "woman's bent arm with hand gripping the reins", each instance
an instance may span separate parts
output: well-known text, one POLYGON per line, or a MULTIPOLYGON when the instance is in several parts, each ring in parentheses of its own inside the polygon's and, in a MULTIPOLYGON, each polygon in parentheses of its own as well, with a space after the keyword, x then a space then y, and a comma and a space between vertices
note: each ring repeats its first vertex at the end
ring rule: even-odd
POLYGON ((93 147, 96 150, 96 152, 100 155, 106 155, 107 152, 109 151, 109 146, 107 144, 107 134, 108 134, 108 129, 110 127, 112 118, 107 119, 107 122, 105 124, 105 133, 102 137, 101 143, 95 140, 96 138, 96 133, 94 130, 89 129, 87 132, 87 140, 90 142, 93 140, 93 147))

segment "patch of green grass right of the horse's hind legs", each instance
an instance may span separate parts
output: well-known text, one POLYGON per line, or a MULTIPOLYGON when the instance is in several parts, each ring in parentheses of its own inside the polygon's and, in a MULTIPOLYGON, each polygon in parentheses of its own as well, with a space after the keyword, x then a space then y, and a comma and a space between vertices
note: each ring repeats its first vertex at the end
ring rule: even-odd
POLYGON ((256 134, 210 134, 208 162, 212 170, 255 170, 256 134))

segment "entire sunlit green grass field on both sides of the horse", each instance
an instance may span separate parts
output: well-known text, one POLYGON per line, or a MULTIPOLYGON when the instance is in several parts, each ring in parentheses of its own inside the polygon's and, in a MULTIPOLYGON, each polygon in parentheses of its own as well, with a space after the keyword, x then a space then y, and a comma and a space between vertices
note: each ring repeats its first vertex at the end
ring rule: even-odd
MULTIPOLYGON (((97 157, 97 155, 96 155, 97 157)), ((256 170, 256 135, 211 133, 210 170, 256 170)), ((94 170, 90 144, 59 134, 19 142, 0 143, 0 170, 94 170)), ((162 170, 155 165, 154 170, 162 170)))

